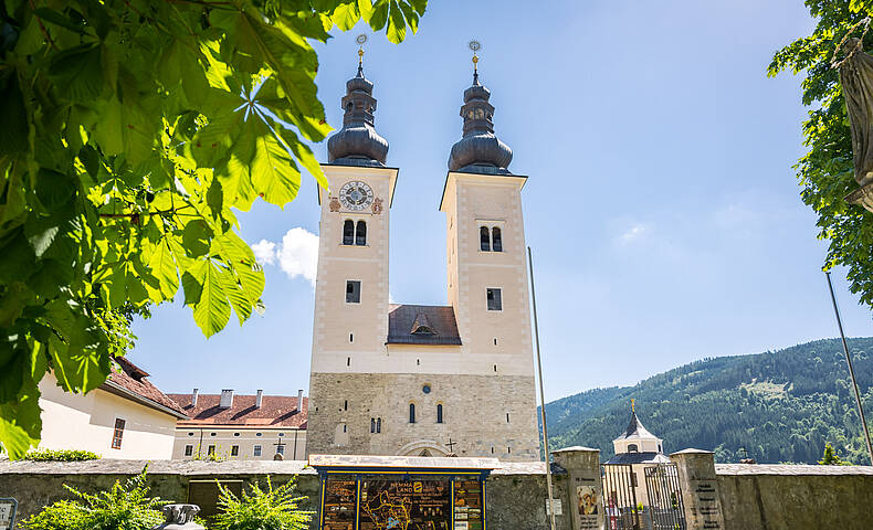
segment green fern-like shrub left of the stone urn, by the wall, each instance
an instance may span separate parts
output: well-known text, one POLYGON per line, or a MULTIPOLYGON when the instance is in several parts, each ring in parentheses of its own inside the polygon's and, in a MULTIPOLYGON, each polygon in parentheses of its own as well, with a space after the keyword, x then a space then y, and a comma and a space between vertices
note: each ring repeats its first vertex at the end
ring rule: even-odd
POLYGON ((21 521, 25 530, 149 530, 164 522, 158 510, 165 502, 149 497, 146 469, 122 486, 116 480, 108 491, 96 495, 64 485, 75 497, 45 507, 21 521))

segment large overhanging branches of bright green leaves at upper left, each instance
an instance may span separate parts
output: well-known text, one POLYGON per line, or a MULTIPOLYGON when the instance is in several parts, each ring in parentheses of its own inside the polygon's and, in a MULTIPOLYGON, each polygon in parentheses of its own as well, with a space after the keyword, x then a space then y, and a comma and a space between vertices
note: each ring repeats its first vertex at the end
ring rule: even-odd
POLYGON ((0 442, 39 443, 36 384, 104 382, 117 311, 181 295, 207 337, 263 310, 236 211, 284 206, 330 127, 311 40, 400 42, 427 0, 0 2, 0 442))

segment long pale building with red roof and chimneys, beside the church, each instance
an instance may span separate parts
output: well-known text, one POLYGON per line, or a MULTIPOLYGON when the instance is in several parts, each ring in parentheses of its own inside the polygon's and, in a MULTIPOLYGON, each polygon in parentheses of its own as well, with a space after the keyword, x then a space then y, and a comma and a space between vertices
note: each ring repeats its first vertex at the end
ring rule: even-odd
POLYGON ((176 425, 173 459, 302 460, 306 455, 306 398, 221 394, 169 394, 188 414, 176 425), (278 456, 277 456, 278 455, 278 456))

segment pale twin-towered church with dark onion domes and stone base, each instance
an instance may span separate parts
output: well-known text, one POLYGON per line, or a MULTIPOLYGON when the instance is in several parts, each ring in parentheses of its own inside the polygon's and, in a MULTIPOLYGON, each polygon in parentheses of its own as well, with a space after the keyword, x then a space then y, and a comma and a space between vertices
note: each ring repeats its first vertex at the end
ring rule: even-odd
POLYGON ((520 190, 474 74, 441 202, 449 306, 390 305, 397 168, 376 132, 374 85, 346 84, 322 166, 309 454, 539 459, 520 190))

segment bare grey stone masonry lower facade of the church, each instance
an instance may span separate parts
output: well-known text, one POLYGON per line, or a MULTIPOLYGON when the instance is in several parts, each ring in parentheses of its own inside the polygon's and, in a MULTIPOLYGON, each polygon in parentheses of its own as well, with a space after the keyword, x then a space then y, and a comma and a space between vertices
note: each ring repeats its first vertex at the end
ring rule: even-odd
POLYGON ((309 454, 398 455, 428 448, 442 456, 431 446, 446 451, 451 437, 459 456, 512 462, 539 455, 536 411, 529 406, 532 377, 314 373, 309 393, 322 396, 309 406, 309 454), (429 394, 421 390, 424 384, 429 394), (416 404, 414 424, 409 403, 416 404), (443 423, 436 423, 438 403, 443 423), (371 417, 381 418, 381 433, 370 433, 371 417))

